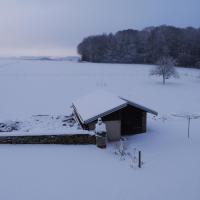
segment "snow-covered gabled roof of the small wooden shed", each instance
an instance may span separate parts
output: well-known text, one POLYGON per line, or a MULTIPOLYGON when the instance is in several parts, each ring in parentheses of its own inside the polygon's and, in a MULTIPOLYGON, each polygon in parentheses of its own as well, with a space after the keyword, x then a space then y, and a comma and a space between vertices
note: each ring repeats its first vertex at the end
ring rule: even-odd
POLYGON ((115 112, 121 108, 131 105, 146 112, 157 115, 156 111, 136 104, 127 99, 123 99, 105 90, 98 90, 91 94, 81 97, 73 102, 73 108, 82 123, 90 123, 98 117, 115 112))

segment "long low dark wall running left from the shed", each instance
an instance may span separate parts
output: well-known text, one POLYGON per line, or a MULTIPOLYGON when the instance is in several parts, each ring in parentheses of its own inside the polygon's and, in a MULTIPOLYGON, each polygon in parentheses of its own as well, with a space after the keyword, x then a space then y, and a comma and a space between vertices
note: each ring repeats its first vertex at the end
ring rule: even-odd
POLYGON ((96 144, 96 137, 89 134, 0 136, 0 144, 96 144))

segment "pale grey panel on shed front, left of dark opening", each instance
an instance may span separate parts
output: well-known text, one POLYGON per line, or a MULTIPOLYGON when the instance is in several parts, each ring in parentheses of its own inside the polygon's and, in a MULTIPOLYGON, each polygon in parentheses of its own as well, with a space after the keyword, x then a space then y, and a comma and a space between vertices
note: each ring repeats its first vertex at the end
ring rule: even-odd
POLYGON ((109 141, 119 140, 121 137, 121 120, 105 121, 109 141))

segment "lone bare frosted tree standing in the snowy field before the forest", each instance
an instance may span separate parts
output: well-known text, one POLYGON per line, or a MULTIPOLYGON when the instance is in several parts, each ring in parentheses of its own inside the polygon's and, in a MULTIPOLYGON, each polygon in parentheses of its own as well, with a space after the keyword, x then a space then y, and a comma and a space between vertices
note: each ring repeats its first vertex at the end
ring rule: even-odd
POLYGON ((151 70, 151 76, 162 76, 163 84, 170 77, 178 78, 178 72, 175 69, 176 61, 172 57, 164 56, 156 62, 156 67, 151 70))

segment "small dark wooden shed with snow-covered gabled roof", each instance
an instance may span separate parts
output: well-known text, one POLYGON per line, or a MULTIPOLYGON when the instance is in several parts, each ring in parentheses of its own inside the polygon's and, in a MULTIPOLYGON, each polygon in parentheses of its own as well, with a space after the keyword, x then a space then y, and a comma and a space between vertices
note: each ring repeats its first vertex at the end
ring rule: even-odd
POLYGON ((108 139, 146 132, 147 113, 158 113, 123 97, 98 90, 72 104, 77 122, 85 130, 94 130, 99 117, 106 124, 108 139))

